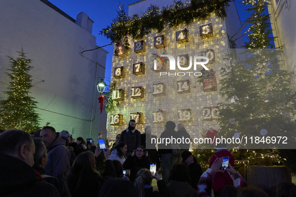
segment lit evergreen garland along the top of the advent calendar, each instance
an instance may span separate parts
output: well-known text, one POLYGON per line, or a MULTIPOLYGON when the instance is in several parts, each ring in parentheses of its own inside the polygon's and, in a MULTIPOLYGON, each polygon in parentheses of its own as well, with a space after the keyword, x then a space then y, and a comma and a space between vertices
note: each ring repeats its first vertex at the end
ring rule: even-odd
POLYGON ((189 25, 194 20, 203 20, 215 13, 219 18, 225 17, 225 6, 229 6, 228 2, 231 0, 206 0, 202 3, 199 0, 191 0, 191 2, 174 1, 171 7, 163 7, 160 9, 158 6, 151 5, 139 17, 134 14, 129 17, 125 13, 124 7, 120 4, 120 10, 117 11, 118 15, 113 18, 111 26, 107 26, 100 31, 112 42, 120 41, 125 35, 130 35, 133 39, 143 39, 146 34, 151 30, 161 32, 165 29, 167 24, 169 28, 177 27, 180 24, 189 25))

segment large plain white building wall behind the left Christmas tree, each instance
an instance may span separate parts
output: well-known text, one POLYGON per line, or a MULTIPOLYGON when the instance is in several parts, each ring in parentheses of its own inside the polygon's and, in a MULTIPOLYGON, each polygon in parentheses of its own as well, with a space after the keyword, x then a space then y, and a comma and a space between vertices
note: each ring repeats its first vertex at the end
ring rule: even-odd
POLYGON ((7 55, 17 57, 23 47, 33 60, 30 74, 36 84, 31 91, 39 102, 41 126, 51 122, 74 138, 96 139, 99 132, 106 133, 95 83, 105 75, 108 52, 80 54, 96 47, 96 37, 40 0, 1 0, 0 18, 0 99, 6 98, 9 82, 7 55))

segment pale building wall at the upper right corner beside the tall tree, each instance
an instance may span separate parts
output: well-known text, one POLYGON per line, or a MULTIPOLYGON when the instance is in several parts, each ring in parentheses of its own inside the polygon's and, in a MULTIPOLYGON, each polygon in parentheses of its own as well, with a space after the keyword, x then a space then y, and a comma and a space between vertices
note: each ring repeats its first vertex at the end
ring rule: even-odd
MULTIPOLYGON (((289 71, 296 73, 296 2, 294 0, 271 0, 268 6, 275 47, 283 48, 283 60, 289 71)), ((296 90, 296 74, 294 74, 293 88, 296 90)))

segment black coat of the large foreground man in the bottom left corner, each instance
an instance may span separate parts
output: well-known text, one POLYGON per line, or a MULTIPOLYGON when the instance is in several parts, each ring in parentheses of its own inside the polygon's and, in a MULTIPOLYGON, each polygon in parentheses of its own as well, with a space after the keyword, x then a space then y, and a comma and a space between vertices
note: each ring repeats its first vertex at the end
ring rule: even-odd
POLYGON ((0 196, 60 196, 58 189, 43 181, 26 162, 8 154, 0 154, 0 160, 0 196))

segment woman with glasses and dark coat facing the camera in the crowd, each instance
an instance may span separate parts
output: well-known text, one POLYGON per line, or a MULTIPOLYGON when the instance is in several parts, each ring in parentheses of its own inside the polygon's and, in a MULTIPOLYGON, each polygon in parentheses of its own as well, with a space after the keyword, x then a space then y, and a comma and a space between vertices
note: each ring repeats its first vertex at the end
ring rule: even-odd
POLYGON ((150 158, 145 147, 140 145, 122 164, 123 168, 130 169, 130 180, 134 181, 138 171, 142 168, 150 168, 150 158))

